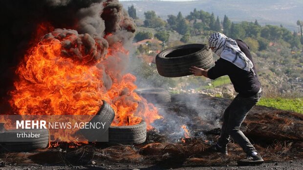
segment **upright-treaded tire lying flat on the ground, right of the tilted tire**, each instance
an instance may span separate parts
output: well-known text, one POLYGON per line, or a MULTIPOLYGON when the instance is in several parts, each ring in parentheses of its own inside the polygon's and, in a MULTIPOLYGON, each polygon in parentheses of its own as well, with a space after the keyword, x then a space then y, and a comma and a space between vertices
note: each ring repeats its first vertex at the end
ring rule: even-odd
POLYGON ((136 145, 146 140, 147 132, 144 120, 137 125, 131 126, 110 126, 108 128, 108 142, 110 144, 136 145))

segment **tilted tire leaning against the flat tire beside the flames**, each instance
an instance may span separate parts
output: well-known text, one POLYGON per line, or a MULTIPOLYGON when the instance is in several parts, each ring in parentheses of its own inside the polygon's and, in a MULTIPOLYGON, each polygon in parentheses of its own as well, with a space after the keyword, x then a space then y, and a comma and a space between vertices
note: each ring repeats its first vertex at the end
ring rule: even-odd
POLYGON ((103 100, 102 107, 98 113, 96 113, 96 115, 89 121, 89 123, 106 122, 104 129, 81 129, 79 132, 82 133, 82 135, 85 136, 88 141, 98 141, 98 139, 102 137, 102 134, 108 130, 114 118, 115 112, 110 107, 110 105, 103 100))

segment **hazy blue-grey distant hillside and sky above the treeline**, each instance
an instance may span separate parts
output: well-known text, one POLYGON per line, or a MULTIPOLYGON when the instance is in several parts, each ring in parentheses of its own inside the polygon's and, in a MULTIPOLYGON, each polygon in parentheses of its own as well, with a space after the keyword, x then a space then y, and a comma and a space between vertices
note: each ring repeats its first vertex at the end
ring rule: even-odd
POLYGON ((255 21, 261 25, 280 25, 291 31, 298 31, 296 22, 303 20, 302 0, 195 0, 195 1, 158 1, 158 0, 130 0, 121 1, 124 8, 131 4, 136 8, 137 16, 144 18, 144 12, 153 10, 158 16, 166 19, 168 15, 188 15, 194 8, 223 19, 227 15, 233 22, 255 21))

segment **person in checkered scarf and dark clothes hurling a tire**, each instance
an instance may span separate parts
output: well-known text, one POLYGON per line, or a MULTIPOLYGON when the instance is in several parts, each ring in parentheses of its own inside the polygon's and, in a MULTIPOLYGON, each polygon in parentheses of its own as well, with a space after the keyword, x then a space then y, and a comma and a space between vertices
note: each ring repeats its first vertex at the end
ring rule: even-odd
POLYGON ((242 40, 234 40, 221 33, 212 34, 208 43, 209 48, 220 58, 211 69, 204 70, 192 66, 190 72, 195 76, 205 76, 210 79, 228 75, 238 93, 224 112, 221 134, 216 145, 212 146, 212 150, 227 155, 227 144, 231 136, 247 154, 246 159, 238 160, 238 165, 260 165, 264 162, 262 157, 240 131, 247 113, 262 95, 249 47, 242 40))

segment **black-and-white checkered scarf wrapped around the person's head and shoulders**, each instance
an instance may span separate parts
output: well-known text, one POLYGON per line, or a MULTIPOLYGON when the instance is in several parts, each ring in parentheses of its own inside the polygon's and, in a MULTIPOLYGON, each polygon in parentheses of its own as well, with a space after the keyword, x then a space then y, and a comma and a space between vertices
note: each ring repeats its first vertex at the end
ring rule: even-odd
POLYGON ((214 33, 208 39, 208 45, 210 47, 215 47, 213 51, 216 53, 216 55, 232 62, 240 69, 253 72, 255 75, 253 63, 240 50, 237 42, 234 39, 228 38, 221 33, 214 33))

